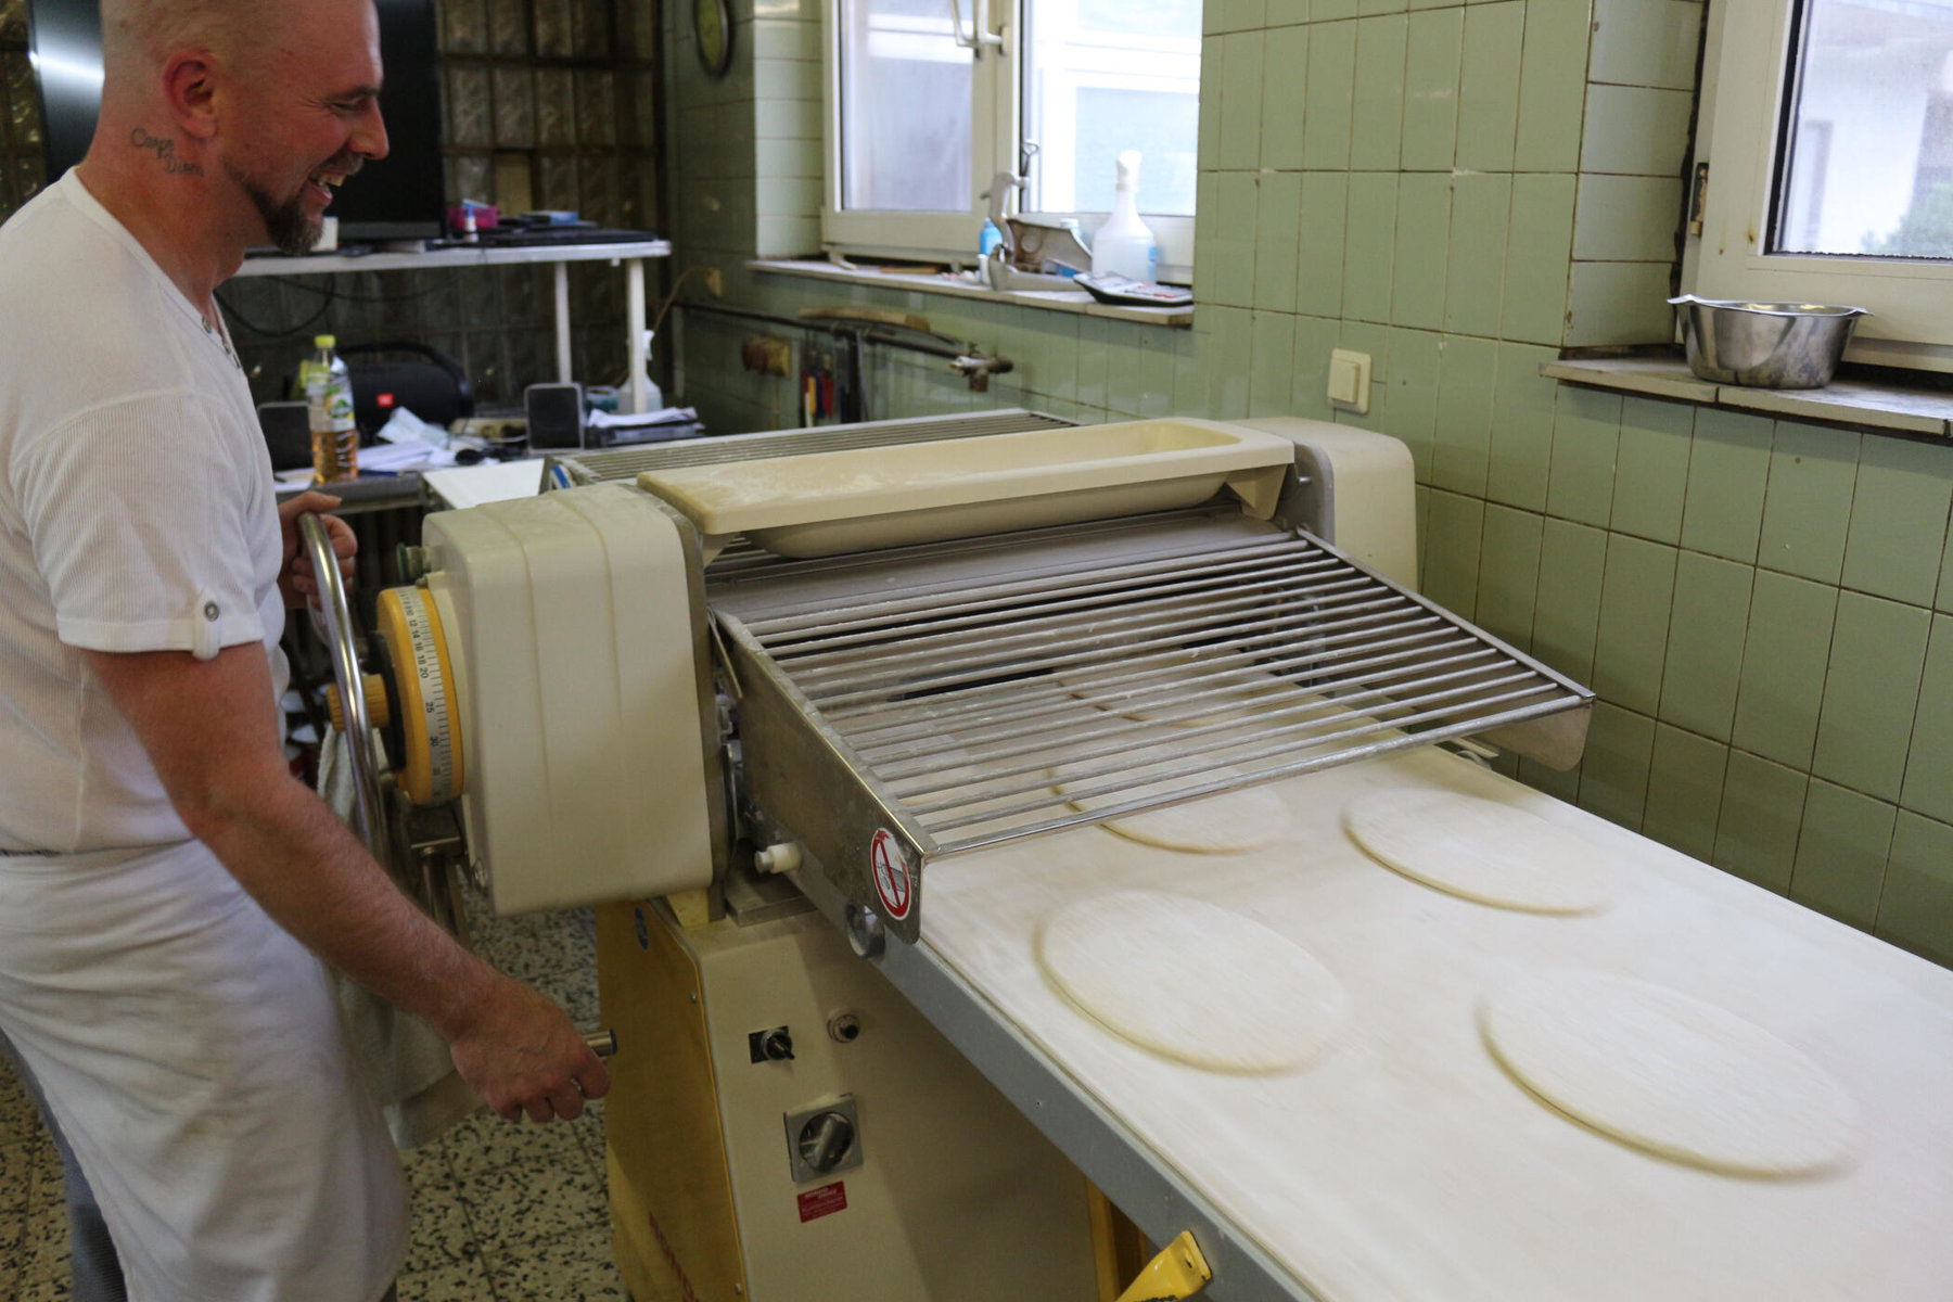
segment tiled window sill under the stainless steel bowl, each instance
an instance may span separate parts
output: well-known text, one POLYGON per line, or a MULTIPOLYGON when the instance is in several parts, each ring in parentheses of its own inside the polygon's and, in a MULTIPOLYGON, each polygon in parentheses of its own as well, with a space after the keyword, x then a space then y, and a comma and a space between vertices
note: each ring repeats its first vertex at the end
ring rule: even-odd
POLYGON ((1838 379, 1824 388, 1744 388, 1697 379, 1670 357, 1564 357, 1539 373, 1566 385, 1680 398, 1793 420, 1818 420, 1879 433, 1953 437, 1953 392, 1838 379))

